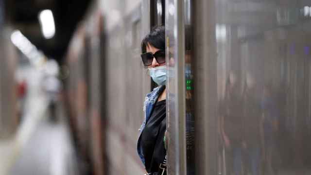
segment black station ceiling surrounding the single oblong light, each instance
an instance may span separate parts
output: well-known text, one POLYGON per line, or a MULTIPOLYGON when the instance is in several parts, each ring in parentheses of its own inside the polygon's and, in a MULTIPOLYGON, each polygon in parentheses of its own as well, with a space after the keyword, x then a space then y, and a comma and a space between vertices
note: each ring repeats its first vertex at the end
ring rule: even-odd
POLYGON ((92 0, 5 0, 6 18, 49 58, 62 62, 77 23, 92 0), (56 33, 45 39, 38 20, 40 11, 52 10, 56 33))

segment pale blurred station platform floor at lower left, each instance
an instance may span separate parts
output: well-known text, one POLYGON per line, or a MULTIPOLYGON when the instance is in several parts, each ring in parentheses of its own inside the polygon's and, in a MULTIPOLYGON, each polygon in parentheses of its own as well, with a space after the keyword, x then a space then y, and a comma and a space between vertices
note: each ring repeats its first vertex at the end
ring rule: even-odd
POLYGON ((68 123, 62 109, 57 114, 53 121, 46 109, 14 139, 0 141, 0 175, 79 175, 68 123))

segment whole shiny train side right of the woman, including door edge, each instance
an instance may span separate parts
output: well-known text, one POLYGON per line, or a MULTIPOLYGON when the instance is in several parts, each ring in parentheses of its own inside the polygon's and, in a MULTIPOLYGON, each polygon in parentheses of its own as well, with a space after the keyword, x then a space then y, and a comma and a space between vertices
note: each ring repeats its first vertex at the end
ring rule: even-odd
POLYGON ((311 3, 167 0, 166 12, 168 173, 308 174, 311 3))

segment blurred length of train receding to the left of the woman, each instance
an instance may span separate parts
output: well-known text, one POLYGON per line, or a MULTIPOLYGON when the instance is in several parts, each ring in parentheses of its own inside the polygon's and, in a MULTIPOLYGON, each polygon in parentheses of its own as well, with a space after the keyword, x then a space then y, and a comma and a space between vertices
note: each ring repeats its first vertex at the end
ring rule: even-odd
MULTIPOLYGON (((143 120, 144 95, 154 83, 137 55, 140 41, 151 27, 151 4, 126 3, 124 14, 121 9, 109 8, 121 8, 121 2, 91 5, 66 56, 71 128, 88 171, 98 175, 144 174, 136 140, 143 120), (107 18, 107 13, 115 19, 107 18)), ((164 15, 153 20, 162 24, 164 15)))

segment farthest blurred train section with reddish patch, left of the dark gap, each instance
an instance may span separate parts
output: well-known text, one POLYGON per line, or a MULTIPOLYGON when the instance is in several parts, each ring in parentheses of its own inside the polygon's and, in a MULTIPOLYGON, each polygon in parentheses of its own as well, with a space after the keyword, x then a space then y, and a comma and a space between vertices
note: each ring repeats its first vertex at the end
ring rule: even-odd
MULTIPOLYGON (((92 128, 90 115, 90 63, 89 40, 86 35, 86 24, 81 23, 73 35, 63 67, 65 82, 66 106, 73 140, 78 153, 81 174, 92 174, 91 150, 92 128)), ((96 69, 94 67, 93 69, 96 69)), ((101 123, 101 122, 99 122, 101 123)))

